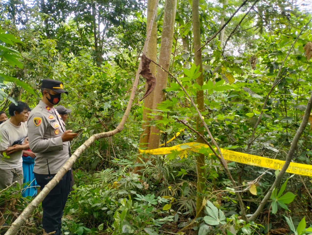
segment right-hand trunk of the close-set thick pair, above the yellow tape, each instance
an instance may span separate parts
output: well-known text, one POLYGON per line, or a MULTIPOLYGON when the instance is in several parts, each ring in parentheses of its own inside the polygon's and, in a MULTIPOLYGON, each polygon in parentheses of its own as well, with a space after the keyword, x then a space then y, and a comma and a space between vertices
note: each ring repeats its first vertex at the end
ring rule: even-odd
MULTIPOLYGON (((168 70, 170 64, 170 56, 173 44, 174 20, 177 8, 177 0, 167 0, 165 2, 163 15, 163 32, 161 34, 161 44, 158 64, 168 70)), ((163 89, 166 88, 168 82, 168 73, 161 68, 157 70, 156 87, 154 89, 154 103, 153 109, 157 109, 159 103, 164 101, 165 93, 163 89)), ((155 116, 155 120, 160 120, 161 116, 155 116)), ((151 127, 150 133, 150 149, 158 148, 160 141, 159 129, 156 126, 151 127)))

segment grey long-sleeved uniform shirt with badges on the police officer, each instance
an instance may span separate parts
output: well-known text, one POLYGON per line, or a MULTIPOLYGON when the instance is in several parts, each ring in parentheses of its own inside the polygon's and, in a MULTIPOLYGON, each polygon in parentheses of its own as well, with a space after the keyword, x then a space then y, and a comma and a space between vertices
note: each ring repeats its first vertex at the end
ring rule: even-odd
POLYGON ((28 117, 29 147, 36 154, 34 172, 55 174, 70 157, 69 141, 62 142, 65 123, 55 108, 49 108, 42 101, 28 117))

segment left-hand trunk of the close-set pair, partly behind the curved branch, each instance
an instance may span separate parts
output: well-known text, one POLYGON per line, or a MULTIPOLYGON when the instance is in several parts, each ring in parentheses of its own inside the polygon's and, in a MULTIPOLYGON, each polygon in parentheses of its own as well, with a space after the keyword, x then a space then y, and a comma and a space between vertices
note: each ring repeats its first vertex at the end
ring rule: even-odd
MULTIPOLYGON (((150 24, 151 24, 151 18, 154 13, 155 7, 158 5, 158 0, 148 0, 147 2, 147 20, 146 20, 146 30, 149 30, 150 24)), ((156 21, 153 21, 153 26, 151 29, 151 36, 149 38, 149 46, 147 49, 146 56, 154 61, 156 61, 156 55, 157 55, 157 23, 156 21)), ((156 74, 156 64, 150 63, 149 68, 153 74, 156 74)), ((147 89, 147 84, 145 84, 145 90, 147 89)), ((140 142, 139 146, 140 148, 148 148, 149 142, 150 142, 150 130, 151 127, 149 125, 150 118, 148 117, 150 110, 153 109, 153 100, 154 100, 154 92, 152 91, 145 99, 144 99, 144 108, 143 108, 143 118, 142 118, 142 125, 141 128, 143 129, 143 132, 140 136, 140 142)), ((142 155, 140 154, 137 157, 136 163, 142 163, 141 161, 142 155)), ((144 159, 145 161, 146 159, 144 159)), ((134 172, 139 173, 138 171, 142 167, 136 166, 134 168, 134 172)))

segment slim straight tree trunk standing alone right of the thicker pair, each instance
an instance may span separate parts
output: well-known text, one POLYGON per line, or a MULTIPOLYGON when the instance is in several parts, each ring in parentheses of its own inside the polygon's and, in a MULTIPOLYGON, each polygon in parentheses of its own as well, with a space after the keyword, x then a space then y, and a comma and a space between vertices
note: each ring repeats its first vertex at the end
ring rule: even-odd
MULTIPOLYGON (((199 66, 199 73, 201 75, 196 79, 196 83, 200 86, 203 85, 202 75, 202 50, 198 50, 201 47, 200 37, 200 22, 199 22, 199 0, 193 0, 192 3, 192 22, 193 22, 193 41, 194 41, 194 60, 196 66, 199 66)), ((196 92, 197 108, 200 112, 204 110, 204 91, 198 90, 196 92)), ((197 130, 203 135, 204 128, 202 122, 197 118, 197 130)), ((203 140, 197 135, 196 141, 198 143, 204 143, 203 140)), ((205 156, 203 154, 197 155, 197 200, 196 200, 196 217, 202 217, 203 197, 200 196, 205 188, 205 156)))

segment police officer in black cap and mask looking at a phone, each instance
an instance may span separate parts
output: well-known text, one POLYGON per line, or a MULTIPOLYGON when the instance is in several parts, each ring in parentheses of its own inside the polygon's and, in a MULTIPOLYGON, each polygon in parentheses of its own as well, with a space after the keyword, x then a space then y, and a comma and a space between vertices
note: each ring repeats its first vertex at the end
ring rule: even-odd
MULTIPOLYGON (((34 174, 41 190, 56 175, 70 157, 70 143, 78 133, 65 129, 59 113, 53 108, 61 100, 61 94, 67 93, 63 83, 53 79, 43 79, 41 84, 42 100, 28 117, 29 147, 37 156, 34 174)), ((62 234, 62 215, 70 192, 71 170, 51 190, 42 201, 42 226, 46 233, 56 231, 62 234)))

